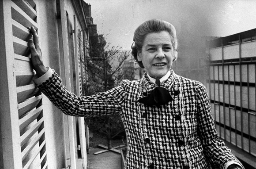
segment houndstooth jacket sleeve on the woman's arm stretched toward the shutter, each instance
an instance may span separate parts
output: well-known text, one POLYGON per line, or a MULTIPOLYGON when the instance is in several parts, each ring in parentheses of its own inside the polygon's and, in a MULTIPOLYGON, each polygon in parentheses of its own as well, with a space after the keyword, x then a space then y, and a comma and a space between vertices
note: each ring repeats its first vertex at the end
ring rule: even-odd
POLYGON ((72 116, 117 114, 125 97, 122 86, 93 96, 77 97, 68 91, 56 72, 37 87, 63 113, 72 116))

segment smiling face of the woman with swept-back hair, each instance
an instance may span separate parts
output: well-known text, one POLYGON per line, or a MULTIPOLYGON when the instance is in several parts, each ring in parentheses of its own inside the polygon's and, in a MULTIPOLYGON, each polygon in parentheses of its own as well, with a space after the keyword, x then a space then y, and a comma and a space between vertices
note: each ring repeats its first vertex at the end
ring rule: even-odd
POLYGON ((138 61, 142 61, 149 76, 160 79, 165 76, 173 63, 173 45, 168 32, 147 34, 138 61))

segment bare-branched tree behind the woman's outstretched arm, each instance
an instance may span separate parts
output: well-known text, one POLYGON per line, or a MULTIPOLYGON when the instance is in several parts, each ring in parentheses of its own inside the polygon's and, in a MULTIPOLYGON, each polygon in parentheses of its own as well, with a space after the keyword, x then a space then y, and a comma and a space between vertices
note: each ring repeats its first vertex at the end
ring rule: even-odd
MULTIPOLYGON (((123 65, 130 55, 129 51, 121 47, 109 47, 104 38, 99 42, 91 42, 87 58, 87 83, 83 86, 85 95, 105 92, 113 87, 124 77, 133 80, 134 71, 131 67, 129 76, 124 76, 128 71, 123 71, 123 65)), ((124 133, 124 126, 119 115, 104 115, 86 118, 89 129, 100 137, 107 139, 108 148, 112 148, 111 140, 120 133, 124 133)))

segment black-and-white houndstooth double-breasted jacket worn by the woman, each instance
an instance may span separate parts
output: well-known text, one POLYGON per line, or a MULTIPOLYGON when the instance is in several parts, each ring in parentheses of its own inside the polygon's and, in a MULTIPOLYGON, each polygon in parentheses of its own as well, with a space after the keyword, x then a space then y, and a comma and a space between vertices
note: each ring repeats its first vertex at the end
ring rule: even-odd
POLYGON ((240 163, 219 140, 205 86, 170 72, 161 87, 173 100, 158 107, 138 102, 156 87, 146 74, 86 97, 70 93, 56 72, 38 87, 67 115, 120 114, 128 142, 126 169, 224 169, 227 162, 240 163))

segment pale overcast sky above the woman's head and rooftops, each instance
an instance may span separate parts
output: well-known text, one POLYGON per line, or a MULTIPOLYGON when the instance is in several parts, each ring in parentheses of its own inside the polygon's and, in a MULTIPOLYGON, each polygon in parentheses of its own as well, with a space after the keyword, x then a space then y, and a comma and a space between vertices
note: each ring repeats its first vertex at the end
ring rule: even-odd
POLYGON ((173 24, 178 39, 184 32, 193 36, 229 36, 256 28, 256 0, 84 1, 91 5, 98 33, 110 46, 125 50, 132 45, 135 29, 153 18, 173 24))

